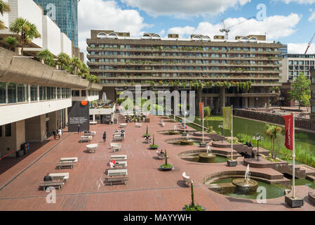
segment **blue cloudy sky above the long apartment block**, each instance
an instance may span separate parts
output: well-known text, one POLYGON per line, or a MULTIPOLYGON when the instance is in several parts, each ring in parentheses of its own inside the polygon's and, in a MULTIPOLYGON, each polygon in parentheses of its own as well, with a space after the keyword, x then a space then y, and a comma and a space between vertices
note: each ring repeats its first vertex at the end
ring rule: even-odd
MULTIPOLYGON (((288 44, 289 53, 304 53, 315 32, 315 0, 81 0, 79 47, 86 49, 91 29, 161 34, 267 34, 288 44)), ((314 40, 315 42, 315 40, 314 40)), ((315 44, 308 53, 315 53, 315 44)))

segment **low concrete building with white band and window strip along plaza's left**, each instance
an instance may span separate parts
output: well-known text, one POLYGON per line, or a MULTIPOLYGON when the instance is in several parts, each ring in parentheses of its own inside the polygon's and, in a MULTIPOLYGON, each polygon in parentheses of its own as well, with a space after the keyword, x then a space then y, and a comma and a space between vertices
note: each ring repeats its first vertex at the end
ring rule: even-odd
MULTIPOLYGON (((0 155, 9 154, 7 157, 15 157, 22 143, 41 142, 53 130, 65 127, 67 108, 78 101, 72 99, 72 89, 83 91, 85 101, 98 100, 102 89, 86 79, 17 56, 0 48, 0 155)), ((89 124, 88 114, 80 117, 89 124)))

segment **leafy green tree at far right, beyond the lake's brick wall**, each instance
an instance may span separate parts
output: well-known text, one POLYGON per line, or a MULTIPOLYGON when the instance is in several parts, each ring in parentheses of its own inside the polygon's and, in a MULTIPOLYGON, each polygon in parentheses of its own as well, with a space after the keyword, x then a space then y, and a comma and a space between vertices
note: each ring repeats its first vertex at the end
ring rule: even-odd
POLYGON ((307 98, 310 98, 310 94, 311 94, 311 89, 309 87, 309 85, 311 84, 311 82, 309 81, 309 79, 307 79, 307 77, 305 77, 303 75, 302 72, 300 72, 300 75, 297 77, 297 79, 295 80, 295 82, 292 84, 293 89, 288 91, 288 93, 290 94, 290 100, 295 100, 299 102, 299 110, 301 107, 301 103, 304 101, 307 102, 307 98))

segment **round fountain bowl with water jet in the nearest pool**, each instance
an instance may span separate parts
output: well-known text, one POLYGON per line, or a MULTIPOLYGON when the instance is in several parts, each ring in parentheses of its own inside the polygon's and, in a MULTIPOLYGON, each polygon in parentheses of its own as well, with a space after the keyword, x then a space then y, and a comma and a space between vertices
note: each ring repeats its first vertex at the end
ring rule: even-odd
POLYGON ((249 165, 247 165, 244 179, 234 179, 232 184, 236 186, 236 191, 239 193, 255 193, 258 183, 250 179, 249 165))

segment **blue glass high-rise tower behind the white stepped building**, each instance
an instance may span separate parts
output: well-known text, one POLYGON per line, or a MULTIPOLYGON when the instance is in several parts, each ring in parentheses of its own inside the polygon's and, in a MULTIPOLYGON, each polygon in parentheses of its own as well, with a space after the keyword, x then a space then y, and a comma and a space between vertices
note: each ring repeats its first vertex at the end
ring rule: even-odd
POLYGON ((78 47, 78 0, 34 0, 78 47))

